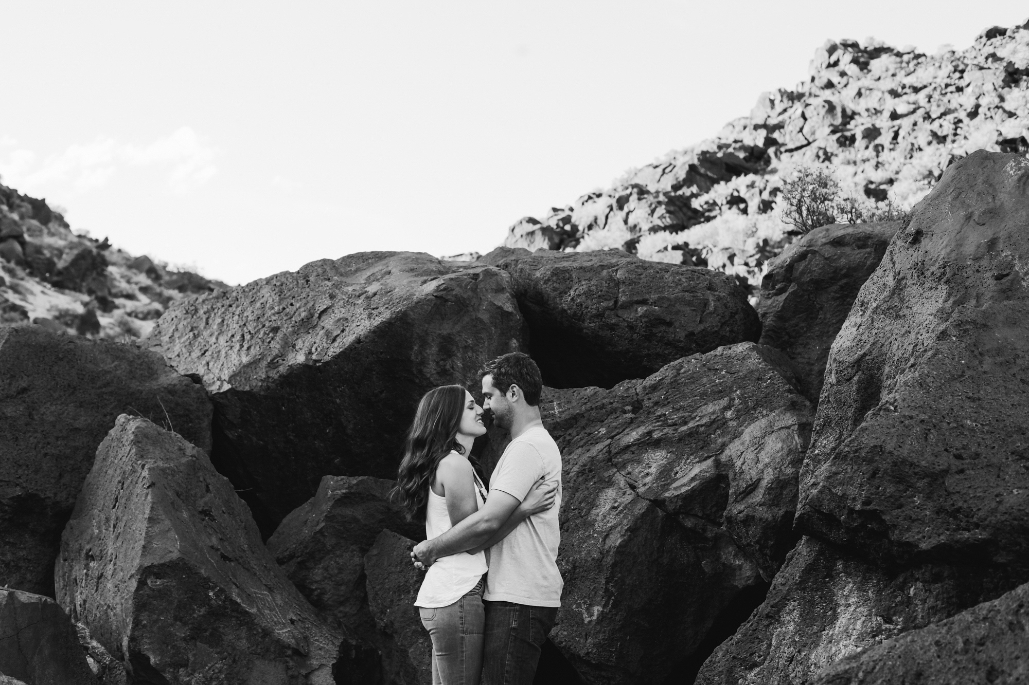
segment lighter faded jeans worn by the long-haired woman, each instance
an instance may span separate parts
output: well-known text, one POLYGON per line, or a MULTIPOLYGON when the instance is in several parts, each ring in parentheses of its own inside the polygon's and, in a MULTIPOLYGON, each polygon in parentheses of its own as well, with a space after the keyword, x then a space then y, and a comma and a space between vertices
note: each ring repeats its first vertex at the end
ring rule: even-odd
POLYGON ((419 612, 432 638, 432 685, 478 685, 486 632, 483 581, 448 607, 419 607, 419 612))

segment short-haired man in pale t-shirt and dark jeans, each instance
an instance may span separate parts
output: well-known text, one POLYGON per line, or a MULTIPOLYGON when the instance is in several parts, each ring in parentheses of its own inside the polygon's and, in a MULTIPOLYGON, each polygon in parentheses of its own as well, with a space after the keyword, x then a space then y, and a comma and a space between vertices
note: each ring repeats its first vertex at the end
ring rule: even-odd
POLYGON ((554 507, 526 518, 490 547, 483 594, 484 685, 531 685, 540 648, 561 606, 561 453, 539 416, 542 388, 539 368, 528 355, 516 352, 486 365, 483 408, 510 433, 510 444, 493 471, 486 505, 412 552, 429 566, 440 556, 489 543, 536 480, 543 478, 557 488, 554 507))

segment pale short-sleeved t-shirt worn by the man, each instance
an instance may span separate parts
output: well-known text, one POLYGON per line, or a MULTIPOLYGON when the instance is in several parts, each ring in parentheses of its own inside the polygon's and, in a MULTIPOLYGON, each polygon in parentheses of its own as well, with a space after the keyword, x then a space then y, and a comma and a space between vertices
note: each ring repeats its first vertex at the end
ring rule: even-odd
POLYGON ((533 607, 560 607, 564 581, 558 571, 558 511, 561 509, 561 452, 545 428, 530 428, 511 440, 490 478, 490 490, 525 499, 542 475, 557 482, 554 506, 529 516, 490 547, 484 600, 533 607))

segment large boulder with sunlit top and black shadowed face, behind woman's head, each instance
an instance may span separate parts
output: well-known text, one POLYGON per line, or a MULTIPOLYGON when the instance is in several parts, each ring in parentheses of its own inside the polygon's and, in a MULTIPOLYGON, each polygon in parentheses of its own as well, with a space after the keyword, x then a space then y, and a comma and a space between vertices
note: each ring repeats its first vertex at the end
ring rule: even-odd
POLYGON ((268 535, 323 475, 394 476, 422 394, 522 337, 506 273, 363 252, 179 301, 151 340, 213 394, 215 464, 268 535))

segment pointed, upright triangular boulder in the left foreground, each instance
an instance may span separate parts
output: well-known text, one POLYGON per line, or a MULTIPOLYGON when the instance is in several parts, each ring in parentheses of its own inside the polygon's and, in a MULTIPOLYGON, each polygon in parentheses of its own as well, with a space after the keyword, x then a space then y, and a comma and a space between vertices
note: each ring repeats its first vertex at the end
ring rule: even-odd
POLYGON ((55 575, 58 601, 133 682, 333 682, 344 635, 207 455, 144 419, 119 417, 101 444, 55 575))

